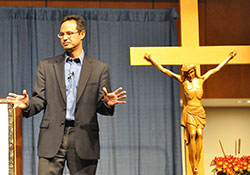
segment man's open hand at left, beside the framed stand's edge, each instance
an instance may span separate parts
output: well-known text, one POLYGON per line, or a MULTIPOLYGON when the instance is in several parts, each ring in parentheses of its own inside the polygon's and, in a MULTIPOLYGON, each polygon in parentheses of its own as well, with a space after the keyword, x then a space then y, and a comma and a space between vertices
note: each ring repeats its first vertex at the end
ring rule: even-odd
POLYGON ((20 109, 27 109, 29 106, 29 95, 27 94, 26 90, 23 90, 23 95, 17 95, 14 93, 9 93, 9 96, 7 97, 7 100, 9 103, 14 104, 15 108, 20 109))

